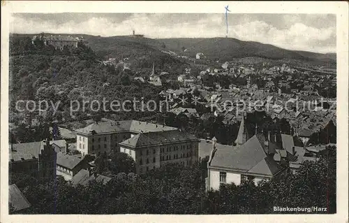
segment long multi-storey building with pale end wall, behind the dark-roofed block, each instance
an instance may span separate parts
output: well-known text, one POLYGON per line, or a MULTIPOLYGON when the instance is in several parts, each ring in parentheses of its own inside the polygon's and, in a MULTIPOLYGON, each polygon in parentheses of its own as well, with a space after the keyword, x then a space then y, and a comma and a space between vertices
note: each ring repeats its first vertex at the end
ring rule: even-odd
POLYGON ((136 120, 102 120, 76 131, 76 148, 84 154, 101 154, 111 151, 120 152, 119 143, 132 136, 145 132, 175 130, 161 124, 151 124, 136 120))

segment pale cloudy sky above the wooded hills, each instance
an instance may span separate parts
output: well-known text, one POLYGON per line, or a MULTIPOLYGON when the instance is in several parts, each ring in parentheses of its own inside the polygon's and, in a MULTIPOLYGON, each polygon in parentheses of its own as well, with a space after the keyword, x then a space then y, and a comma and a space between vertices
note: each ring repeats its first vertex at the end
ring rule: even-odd
MULTIPOLYGON (((10 33, 91 34, 149 38, 214 38, 227 35, 225 13, 14 13, 10 33)), ((228 37, 289 50, 336 52, 334 14, 228 13, 228 37)))

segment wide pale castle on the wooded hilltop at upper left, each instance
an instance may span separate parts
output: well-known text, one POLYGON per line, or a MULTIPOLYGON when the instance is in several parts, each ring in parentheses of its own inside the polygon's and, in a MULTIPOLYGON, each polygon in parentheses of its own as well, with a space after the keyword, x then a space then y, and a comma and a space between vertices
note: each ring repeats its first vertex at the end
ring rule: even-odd
POLYGON ((73 36, 61 36, 61 35, 50 35, 45 36, 44 33, 40 33, 31 39, 31 43, 36 45, 37 43, 43 43, 45 45, 53 45, 54 48, 63 50, 64 46, 78 48, 80 43, 83 42, 83 38, 73 36))

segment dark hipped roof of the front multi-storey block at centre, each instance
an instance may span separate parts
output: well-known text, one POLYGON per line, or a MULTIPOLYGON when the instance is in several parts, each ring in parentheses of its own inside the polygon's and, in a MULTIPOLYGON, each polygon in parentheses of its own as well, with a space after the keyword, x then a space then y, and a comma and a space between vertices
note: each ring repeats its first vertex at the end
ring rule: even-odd
POLYGON ((160 131, 160 132, 147 132, 133 136, 119 143, 119 145, 126 145, 132 148, 162 145, 168 143, 180 143, 184 141, 198 141, 198 138, 188 134, 184 131, 172 130, 172 131, 160 131))

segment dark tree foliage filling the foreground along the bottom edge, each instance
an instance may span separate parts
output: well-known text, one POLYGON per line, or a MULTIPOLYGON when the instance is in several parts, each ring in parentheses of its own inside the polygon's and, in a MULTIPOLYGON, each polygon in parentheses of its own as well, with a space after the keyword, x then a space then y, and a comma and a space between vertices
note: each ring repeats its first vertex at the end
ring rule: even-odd
POLYGON ((295 175, 205 192, 205 165, 169 164, 146 175, 118 173, 106 185, 73 187, 58 178, 22 186, 32 204, 27 213, 44 214, 257 214, 274 206, 328 208, 336 213, 336 148, 317 162, 306 161, 295 175))

